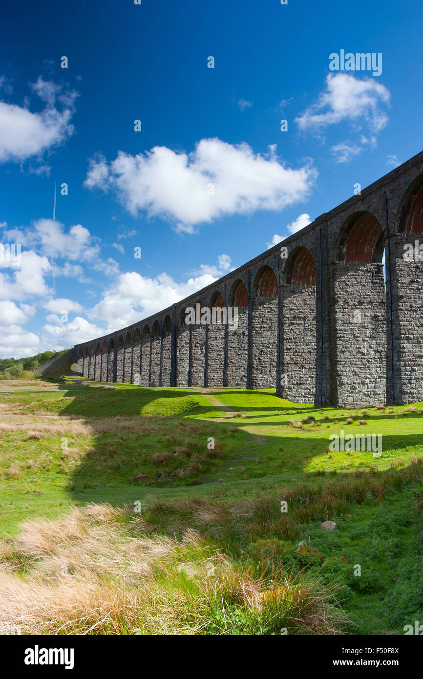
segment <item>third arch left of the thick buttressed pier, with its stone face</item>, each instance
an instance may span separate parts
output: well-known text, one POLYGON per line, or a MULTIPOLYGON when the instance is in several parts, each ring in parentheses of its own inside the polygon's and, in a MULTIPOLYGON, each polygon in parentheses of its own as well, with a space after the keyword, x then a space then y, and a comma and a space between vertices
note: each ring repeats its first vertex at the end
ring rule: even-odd
POLYGON ((249 354, 249 294, 237 278, 229 291, 227 306, 236 309, 237 323, 227 333, 227 386, 246 387, 249 354))

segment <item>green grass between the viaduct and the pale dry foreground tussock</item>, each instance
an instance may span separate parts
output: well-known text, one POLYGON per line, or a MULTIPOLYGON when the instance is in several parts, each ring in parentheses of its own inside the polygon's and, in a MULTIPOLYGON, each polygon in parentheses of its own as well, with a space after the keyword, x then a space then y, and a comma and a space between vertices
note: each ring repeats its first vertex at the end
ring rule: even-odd
POLYGON ((403 634, 423 619, 423 468, 413 461, 423 456, 422 403, 363 414, 289 403, 272 390, 72 382, 0 392, 9 425, 0 431, 0 537, 88 502, 140 502, 153 534, 193 527, 257 575, 272 579, 282 564, 327 587, 339 583, 345 632, 403 634), (382 455, 331 452, 329 436, 341 430, 382 435, 382 455), (322 530, 327 519, 339 530, 322 530), (297 553, 301 539, 313 551, 297 553))

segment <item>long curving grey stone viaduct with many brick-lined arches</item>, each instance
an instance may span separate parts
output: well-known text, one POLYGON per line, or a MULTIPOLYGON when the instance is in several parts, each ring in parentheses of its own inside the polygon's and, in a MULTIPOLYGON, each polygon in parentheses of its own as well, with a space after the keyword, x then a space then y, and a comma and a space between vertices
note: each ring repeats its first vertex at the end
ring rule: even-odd
POLYGON ((73 351, 102 382, 423 401, 423 151, 212 285, 73 351), (187 325, 196 304, 237 308, 238 327, 187 325))

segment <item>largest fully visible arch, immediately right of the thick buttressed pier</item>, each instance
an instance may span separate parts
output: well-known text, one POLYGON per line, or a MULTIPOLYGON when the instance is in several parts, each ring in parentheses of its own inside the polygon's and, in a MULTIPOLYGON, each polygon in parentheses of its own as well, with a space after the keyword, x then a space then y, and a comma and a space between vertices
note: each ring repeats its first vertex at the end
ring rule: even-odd
POLYGON ((386 293, 382 225, 371 213, 354 213, 335 244, 331 272, 335 391, 339 405, 386 400, 386 293))

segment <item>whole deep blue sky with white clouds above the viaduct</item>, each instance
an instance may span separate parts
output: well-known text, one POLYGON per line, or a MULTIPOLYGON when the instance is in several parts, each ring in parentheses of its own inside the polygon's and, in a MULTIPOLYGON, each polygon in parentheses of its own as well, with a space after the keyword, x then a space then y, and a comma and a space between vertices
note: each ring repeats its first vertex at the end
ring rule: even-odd
POLYGON ((419 0, 8 4, 1 357, 149 316, 422 150, 419 0))

